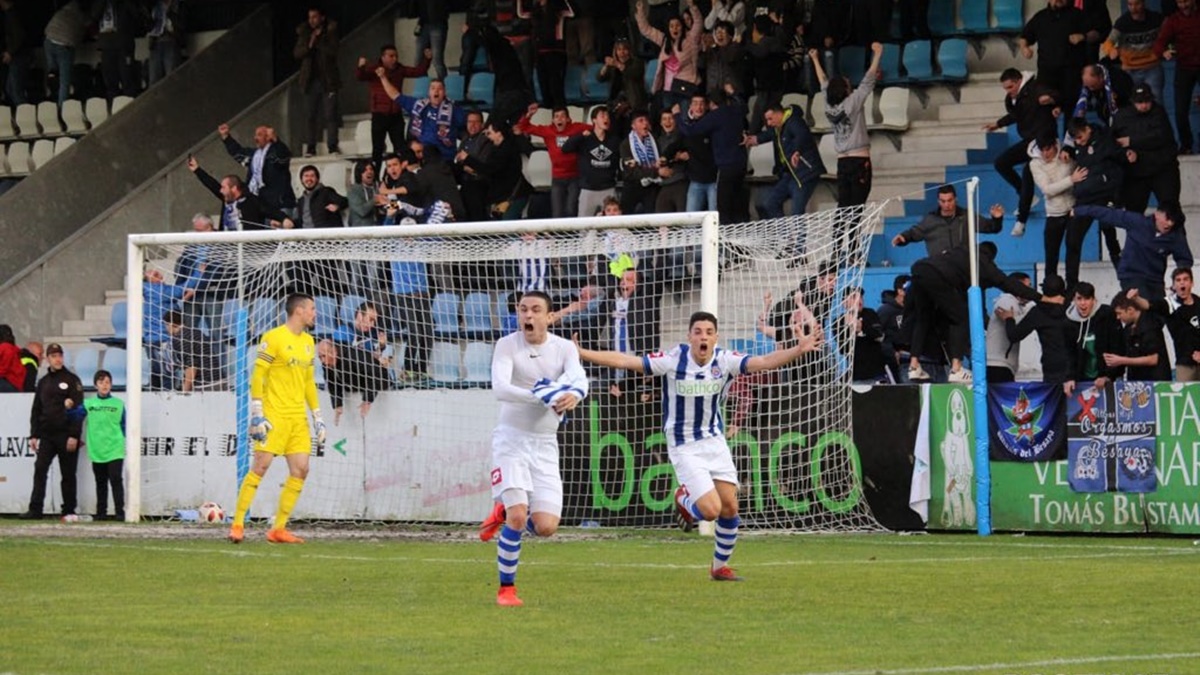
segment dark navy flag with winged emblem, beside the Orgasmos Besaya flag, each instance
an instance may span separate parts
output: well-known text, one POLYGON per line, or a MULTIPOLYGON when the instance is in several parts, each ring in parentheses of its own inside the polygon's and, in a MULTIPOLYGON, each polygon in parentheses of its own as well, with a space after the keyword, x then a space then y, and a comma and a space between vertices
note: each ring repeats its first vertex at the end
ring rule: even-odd
POLYGON ((1062 387, 1040 382, 988 386, 989 453, 995 461, 1067 459, 1062 387))

